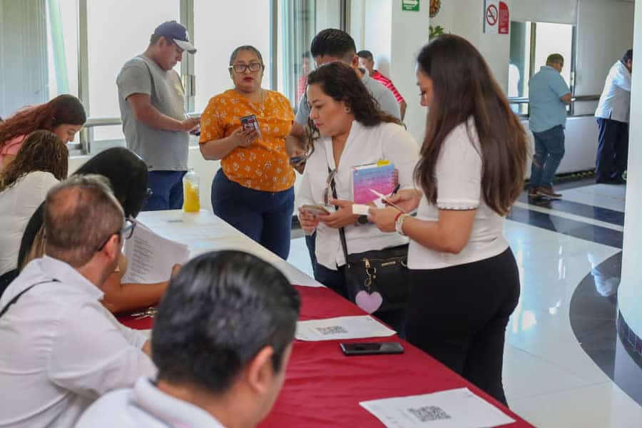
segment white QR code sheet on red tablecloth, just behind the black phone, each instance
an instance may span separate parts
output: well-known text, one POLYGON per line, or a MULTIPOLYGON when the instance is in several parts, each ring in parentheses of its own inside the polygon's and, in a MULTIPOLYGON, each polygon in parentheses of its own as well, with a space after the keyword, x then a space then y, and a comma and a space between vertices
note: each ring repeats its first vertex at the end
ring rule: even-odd
POLYGON ((394 335, 381 322, 370 315, 325 318, 297 322, 297 340, 317 342, 320 340, 360 339, 362 337, 387 337, 394 335))

